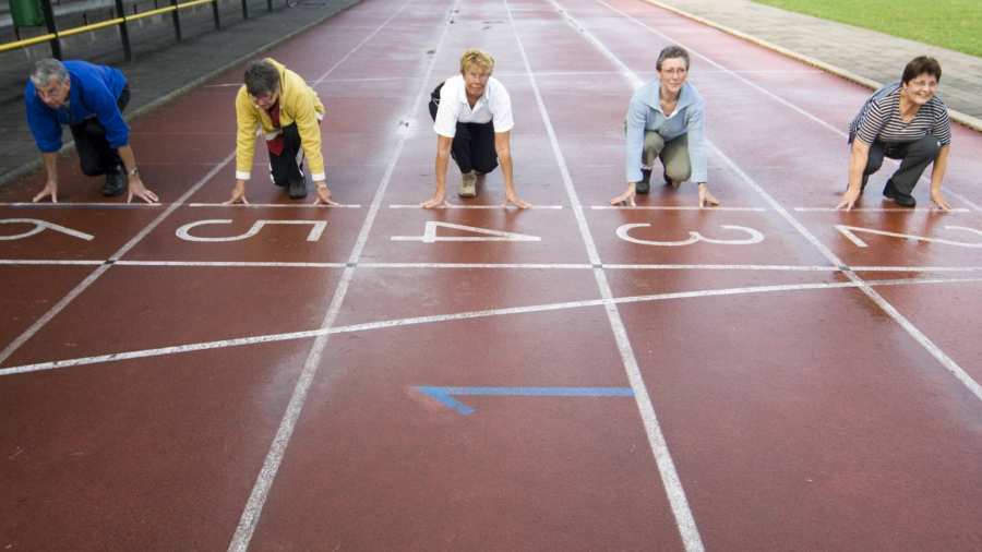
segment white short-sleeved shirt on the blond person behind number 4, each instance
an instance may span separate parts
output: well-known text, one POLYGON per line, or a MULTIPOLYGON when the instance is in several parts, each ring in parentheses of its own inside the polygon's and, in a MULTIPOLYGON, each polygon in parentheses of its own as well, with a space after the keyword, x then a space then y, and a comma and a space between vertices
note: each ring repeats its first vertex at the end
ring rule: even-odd
POLYGON ((498 79, 488 77, 484 94, 478 98, 474 107, 467 101, 464 76, 452 76, 440 88, 440 106, 436 108, 436 120, 433 130, 436 134, 454 137, 458 122, 493 122, 494 132, 507 132, 515 122, 512 120, 512 99, 508 92, 498 79))

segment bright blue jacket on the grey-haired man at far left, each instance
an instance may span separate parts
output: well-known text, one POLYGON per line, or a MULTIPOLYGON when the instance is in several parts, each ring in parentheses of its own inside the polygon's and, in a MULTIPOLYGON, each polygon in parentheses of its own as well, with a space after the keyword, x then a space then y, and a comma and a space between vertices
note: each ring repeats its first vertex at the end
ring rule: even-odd
POLYGON ((127 85, 127 77, 118 69, 95 65, 86 61, 65 61, 72 86, 69 105, 51 109, 37 97, 34 83, 27 80, 24 103, 27 105, 27 125, 37 148, 44 153, 61 149, 61 125, 76 124, 96 117, 106 128, 110 147, 130 142, 130 128, 119 112, 117 100, 127 85))

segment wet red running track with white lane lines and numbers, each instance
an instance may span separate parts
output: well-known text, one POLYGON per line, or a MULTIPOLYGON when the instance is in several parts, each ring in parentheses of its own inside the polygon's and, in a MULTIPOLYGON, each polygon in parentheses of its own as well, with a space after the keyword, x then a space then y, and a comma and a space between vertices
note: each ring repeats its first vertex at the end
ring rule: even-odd
POLYGON ((134 122, 164 205, 68 161, 62 205, 0 192, 3 550, 982 548, 982 136, 955 129, 955 212, 884 175, 834 212, 869 91, 636 0, 367 0, 271 55, 328 108, 346 207, 216 205, 239 68, 134 122), (723 208, 607 208, 670 43, 723 208), (490 208, 412 207, 467 47, 542 208, 494 208, 499 173, 490 208))

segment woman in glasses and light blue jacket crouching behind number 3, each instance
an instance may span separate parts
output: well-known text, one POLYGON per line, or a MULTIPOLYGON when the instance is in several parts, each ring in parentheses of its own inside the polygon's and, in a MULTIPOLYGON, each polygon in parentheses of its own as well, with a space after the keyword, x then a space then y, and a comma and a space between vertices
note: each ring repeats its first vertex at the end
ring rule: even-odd
POLYGON ((634 205, 635 194, 648 193, 655 158, 661 159, 672 188, 698 183, 699 207, 719 205, 706 185, 706 104, 688 77, 688 52, 669 46, 658 55, 658 77, 631 98, 625 121, 627 190, 612 205, 634 205))

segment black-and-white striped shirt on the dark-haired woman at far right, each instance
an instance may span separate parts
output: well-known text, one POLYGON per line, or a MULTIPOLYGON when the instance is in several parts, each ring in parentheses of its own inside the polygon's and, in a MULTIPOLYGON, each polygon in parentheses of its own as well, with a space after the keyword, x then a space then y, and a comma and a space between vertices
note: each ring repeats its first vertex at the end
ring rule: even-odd
POLYGON ((900 118, 899 81, 876 91, 849 125, 849 141, 857 136, 867 144, 874 141, 914 142, 927 134, 936 137, 943 146, 951 143, 948 107, 934 96, 921 106, 913 120, 903 122, 900 118))

